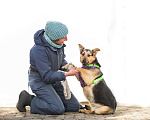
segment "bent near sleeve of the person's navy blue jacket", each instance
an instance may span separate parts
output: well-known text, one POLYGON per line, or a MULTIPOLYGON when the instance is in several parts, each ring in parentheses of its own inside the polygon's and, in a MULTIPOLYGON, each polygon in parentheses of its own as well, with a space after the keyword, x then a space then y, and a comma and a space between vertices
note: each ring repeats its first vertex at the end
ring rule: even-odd
POLYGON ((51 63, 44 48, 34 49, 33 58, 35 66, 44 82, 51 84, 66 79, 64 72, 52 71, 51 63))

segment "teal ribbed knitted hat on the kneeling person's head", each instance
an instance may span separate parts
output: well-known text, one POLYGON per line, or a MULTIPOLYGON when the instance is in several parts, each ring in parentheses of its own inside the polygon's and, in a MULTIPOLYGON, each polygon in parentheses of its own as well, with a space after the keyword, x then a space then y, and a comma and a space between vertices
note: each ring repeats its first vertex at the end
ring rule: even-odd
POLYGON ((58 40, 68 34, 68 28, 60 22, 48 21, 45 26, 45 33, 50 40, 58 40))

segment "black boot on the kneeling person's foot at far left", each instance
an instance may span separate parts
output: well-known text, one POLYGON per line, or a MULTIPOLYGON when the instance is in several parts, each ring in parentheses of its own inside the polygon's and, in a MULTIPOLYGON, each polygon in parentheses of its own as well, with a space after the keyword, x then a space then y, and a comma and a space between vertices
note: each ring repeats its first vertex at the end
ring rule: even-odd
POLYGON ((16 105, 16 108, 20 112, 26 112, 25 107, 31 105, 31 101, 32 101, 33 97, 34 97, 33 95, 30 95, 27 91, 23 90, 19 95, 19 100, 16 105))

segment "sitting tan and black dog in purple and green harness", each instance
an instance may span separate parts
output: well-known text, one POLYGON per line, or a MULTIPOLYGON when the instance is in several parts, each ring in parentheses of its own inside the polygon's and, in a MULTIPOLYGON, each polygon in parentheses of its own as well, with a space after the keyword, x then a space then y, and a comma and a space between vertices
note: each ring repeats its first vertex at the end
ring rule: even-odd
MULTIPOLYGON (((86 114, 113 114, 116 110, 117 102, 106 82, 103 79, 103 73, 100 70, 100 64, 96 58, 99 48, 93 50, 85 49, 79 44, 80 62, 83 67, 77 68, 79 75, 77 79, 83 87, 83 92, 90 106, 86 109, 80 109, 79 112, 86 114)), ((67 68, 64 66, 64 68, 67 68)))

